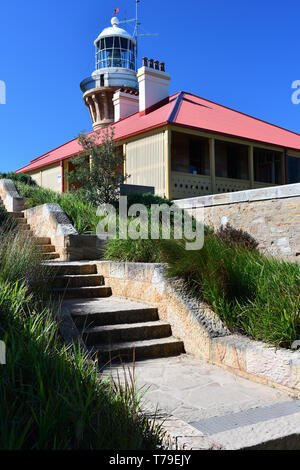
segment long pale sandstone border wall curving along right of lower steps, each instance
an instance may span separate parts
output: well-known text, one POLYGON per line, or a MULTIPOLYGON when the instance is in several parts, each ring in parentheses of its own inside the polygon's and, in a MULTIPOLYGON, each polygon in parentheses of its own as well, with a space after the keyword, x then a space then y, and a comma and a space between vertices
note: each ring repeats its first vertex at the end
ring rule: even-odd
POLYGON ((242 377, 300 392, 300 351, 270 347, 232 335, 209 306, 195 302, 176 282, 166 280, 165 266, 97 262, 114 295, 149 303, 184 341, 185 350, 242 377))

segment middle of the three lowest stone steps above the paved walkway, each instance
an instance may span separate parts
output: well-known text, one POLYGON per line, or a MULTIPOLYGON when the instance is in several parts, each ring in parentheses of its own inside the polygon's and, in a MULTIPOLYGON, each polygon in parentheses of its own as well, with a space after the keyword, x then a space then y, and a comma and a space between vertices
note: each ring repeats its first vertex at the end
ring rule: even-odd
POLYGON ((81 332, 87 346, 105 343, 167 338, 172 335, 169 323, 162 321, 131 323, 121 325, 96 326, 81 332))

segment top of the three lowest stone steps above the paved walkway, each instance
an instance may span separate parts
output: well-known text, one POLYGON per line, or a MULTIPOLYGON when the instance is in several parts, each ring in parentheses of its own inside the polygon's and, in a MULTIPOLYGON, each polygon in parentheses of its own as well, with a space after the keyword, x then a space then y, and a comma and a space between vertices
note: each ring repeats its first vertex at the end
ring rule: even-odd
POLYGON ((74 323, 78 327, 105 326, 105 325, 121 325, 128 323, 143 323, 158 320, 158 312, 155 307, 136 308, 132 310, 107 310, 96 311, 91 313, 72 312, 74 323))

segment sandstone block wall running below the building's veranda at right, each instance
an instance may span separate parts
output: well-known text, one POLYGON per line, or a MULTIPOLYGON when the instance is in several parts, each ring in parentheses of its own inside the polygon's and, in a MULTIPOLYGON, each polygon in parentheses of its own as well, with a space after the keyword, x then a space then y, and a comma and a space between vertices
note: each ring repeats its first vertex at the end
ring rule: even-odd
POLYGON ((300 183, 175 202, 196 218, 203 211, 207 225, 245 230, 263 252, 300 261, 300 183))

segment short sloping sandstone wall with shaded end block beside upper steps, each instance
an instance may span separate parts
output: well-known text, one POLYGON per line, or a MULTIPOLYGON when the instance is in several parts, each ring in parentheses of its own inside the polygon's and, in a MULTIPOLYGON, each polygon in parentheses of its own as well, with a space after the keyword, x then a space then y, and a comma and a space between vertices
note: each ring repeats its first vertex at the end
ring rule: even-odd
POLYGON ((104 241, 96 235, 79 234, 59 204, 26 209, 24 215, 36 236, 51 238, 62 261, 101 259, 104 241))

